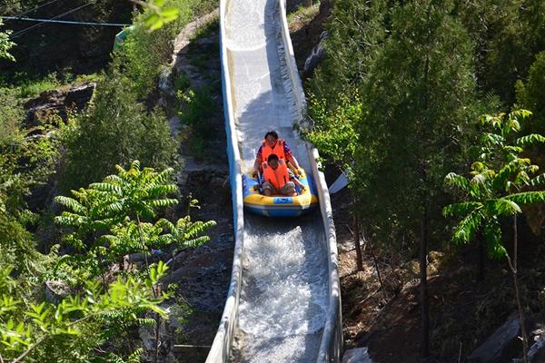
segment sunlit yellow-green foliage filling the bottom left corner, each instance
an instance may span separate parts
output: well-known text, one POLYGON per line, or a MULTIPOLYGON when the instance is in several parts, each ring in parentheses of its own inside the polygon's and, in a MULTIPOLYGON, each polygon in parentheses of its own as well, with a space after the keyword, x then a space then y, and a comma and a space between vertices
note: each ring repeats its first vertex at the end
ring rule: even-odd
POLYGON ((58 301, 45 299, 48 281, 68 286, 71 275, 83 275, 78 269, 86 266, 55 275, 58 248, 49 255, 35 250, 23 225, 27 213, 22 206, 7 208, 5 198, 0 192, 0 358, 46 363, 99 358, 96 348, 126 334, 120 327, 154 323, 138 318, 149 309, 165 314, 159 304, 166 296, 156 288, 166 270, 162 262, 145 277, 119 277, 106 284, 87 279, 80 289, 61 293, 58 301))

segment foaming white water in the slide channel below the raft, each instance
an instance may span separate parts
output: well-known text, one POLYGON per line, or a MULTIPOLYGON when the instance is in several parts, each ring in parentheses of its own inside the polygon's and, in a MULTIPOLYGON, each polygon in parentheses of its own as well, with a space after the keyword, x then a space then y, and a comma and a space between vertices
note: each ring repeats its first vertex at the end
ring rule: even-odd
POLYGON ((327 309, 327 266, 318 216, 247 216, 239 329, 243 362, 315 359, 327 309))

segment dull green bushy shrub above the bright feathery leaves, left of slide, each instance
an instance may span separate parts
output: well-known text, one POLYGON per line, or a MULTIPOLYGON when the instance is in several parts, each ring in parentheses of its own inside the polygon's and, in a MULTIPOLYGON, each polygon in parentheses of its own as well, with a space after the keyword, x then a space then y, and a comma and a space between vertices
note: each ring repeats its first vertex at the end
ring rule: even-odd
POLYGON ((173 163, 176 148, 164 114, 146 113, 131 87, 114 71, 97 84, 86 112, 66 130, 64 191, 101 180, 113 172, 112 165, 134 159, 158 168, 173 163))

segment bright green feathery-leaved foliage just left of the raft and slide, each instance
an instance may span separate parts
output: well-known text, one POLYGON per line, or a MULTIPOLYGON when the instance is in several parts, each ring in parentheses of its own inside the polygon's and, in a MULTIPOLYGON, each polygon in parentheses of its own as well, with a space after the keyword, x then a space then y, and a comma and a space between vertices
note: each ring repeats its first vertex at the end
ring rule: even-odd
POLYGON ((215 225, 214 221, 193 222, 189 216, 175 223, 166 219, 146 222, 178 203, 169 197, 178 192, 171 182, 173 169, 141 170, 140 162, 134 161, 129 170, 117 166, 117 171, 86 190, 72 191, 74 198, 55 198, 71 210, 63 211, 55 221, 73 231, 65 241, 83 252, 62 260, 69 268, 74 264, 87 266, 87 274, 79 280, 104 274, 130 253, 141 251, 147 255, 152 249, 172 244, 195 247, 209 240, 199 235, 215 225))

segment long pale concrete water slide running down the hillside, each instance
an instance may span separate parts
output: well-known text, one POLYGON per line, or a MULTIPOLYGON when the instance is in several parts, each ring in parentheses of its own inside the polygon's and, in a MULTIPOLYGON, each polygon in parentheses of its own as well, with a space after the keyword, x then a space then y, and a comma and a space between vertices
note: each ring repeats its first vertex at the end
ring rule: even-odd
POLYGON ((231 285, 206 363, 338 362, 342 324, 327 186, 294 125, 305 101, 284 0, 221 0, 223 104, 235 250, 231 285), (242 173, 268 130, 286 139, 318 189, 320 211, 272 219, 243 211, 242 173))

